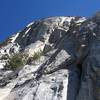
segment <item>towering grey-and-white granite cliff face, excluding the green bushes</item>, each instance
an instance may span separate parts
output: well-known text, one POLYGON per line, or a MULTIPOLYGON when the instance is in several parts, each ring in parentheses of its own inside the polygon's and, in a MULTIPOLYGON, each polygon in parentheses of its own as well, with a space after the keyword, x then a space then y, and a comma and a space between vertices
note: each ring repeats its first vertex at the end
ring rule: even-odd
POLYGON ((32 22, 0 47, 0 100, 100 100, 100 13, 32 22), (22 69, 5 69, 5 55, 39 50, 22 69))

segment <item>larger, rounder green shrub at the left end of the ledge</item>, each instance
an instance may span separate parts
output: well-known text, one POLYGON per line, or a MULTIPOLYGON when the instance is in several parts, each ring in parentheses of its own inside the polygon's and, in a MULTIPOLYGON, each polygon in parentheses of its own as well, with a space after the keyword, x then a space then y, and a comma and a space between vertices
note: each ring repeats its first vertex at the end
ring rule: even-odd
POLYGON ((27 59, 25 55, 20 54, 20 53, 15 54, 8 58, 5 68, 15 71, 16 69, 23 67, 26 64, 26 62, 27 62, 27 59))

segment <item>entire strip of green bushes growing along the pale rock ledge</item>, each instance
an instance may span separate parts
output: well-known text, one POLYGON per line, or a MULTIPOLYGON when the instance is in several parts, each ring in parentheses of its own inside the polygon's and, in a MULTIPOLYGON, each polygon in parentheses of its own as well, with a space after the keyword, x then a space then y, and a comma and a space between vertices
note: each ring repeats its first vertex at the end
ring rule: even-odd
POLYGON ((36 61, 43 55, 43 51, 34 52, 32 57, 27 54, 17 53, 12 56, 8 56, 8 60, 5 65, 5 69, 16 71, 23 68, 26 64, 31 64, 31 62, 36 61))

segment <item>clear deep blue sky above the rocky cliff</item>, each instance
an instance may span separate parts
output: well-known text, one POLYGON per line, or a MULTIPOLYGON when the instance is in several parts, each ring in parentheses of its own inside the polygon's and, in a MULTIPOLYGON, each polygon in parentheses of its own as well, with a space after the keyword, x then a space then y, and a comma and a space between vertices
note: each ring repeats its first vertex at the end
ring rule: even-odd
POLYGON ((48 16, 91 16, 100 0, 0 0, 0 41, 48 16))

